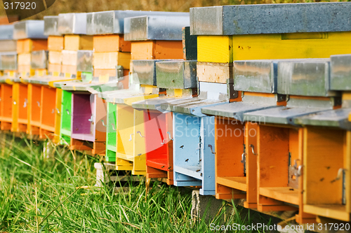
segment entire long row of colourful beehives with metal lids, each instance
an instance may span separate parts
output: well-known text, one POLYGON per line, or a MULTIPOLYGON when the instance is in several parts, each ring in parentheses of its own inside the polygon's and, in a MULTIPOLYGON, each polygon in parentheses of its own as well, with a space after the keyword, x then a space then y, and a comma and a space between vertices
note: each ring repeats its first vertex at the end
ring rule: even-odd
POLYGON ((1 130, 298 223, 348 222, 350 12, 117 10, 1 26, 1 130))

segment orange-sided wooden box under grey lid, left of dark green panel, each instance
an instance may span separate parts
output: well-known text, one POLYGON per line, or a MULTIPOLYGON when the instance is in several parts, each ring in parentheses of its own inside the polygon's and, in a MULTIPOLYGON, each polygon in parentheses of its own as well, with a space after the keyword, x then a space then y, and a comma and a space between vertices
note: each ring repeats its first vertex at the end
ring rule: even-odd
POLYGON ((182 41, 132 41, 131 59, 183 59, 182 41))

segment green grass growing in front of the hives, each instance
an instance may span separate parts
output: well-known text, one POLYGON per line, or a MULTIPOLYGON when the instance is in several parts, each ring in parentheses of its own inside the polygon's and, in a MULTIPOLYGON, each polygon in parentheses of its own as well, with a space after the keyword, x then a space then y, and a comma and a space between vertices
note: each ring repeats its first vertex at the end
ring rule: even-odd
POLYGON ((240 209, 228 214, 228 204, 213 220, 191 223, 191 190, 164 183, 152 183, 147 197, 144 182, 123 193, 95 188, 98 157, 65 147, 45 157, 43 145, 13 139, 1 148, 0 232, 211 232, 220 219, 251 223, 240 209))

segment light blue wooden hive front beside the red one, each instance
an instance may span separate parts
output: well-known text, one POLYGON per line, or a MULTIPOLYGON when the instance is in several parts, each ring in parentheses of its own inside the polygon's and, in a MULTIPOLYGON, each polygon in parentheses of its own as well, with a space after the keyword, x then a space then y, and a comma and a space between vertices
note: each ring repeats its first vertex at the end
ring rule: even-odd
POLYGON ((201 194, 215 195, 214 117, 173 113, 174 185, 201 185, 201 194))

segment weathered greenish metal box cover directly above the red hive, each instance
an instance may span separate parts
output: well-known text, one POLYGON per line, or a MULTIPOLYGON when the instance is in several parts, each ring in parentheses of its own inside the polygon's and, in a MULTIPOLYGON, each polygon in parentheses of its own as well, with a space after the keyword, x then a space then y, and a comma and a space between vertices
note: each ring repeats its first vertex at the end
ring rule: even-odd
POLYGON ((197 61, 156 62, 157 87, 187 89, 197 87, 197 61))

